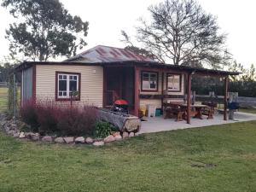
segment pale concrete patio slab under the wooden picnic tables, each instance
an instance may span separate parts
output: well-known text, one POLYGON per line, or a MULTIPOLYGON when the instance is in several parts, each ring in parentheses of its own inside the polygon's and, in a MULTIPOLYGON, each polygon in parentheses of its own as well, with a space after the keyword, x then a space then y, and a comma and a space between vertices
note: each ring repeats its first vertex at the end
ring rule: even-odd
POLYGON ((191 118, 191 124, 187 124, 185 120, 177 122, 175 119, 163 119, 161 116, 147 118, 146 120, 147 121, 142 121, 140 134, 256 120, 256 114, 236 112, 235 120, 224 120, 223 114, 215 114, 213 119, 207 119, 206 116, 203 116, 203 119, 191 118))

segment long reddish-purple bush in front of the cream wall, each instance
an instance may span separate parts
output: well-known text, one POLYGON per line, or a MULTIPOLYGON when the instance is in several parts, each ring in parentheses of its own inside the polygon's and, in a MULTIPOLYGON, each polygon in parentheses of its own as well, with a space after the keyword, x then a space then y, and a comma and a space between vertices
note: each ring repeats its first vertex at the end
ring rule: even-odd
POLYGON ((32 131, 61 136, 92 135, 96 124, 96 108, 84 105, 59 105, 51 101, 28 102, 21 109, 21 118, 32 131))

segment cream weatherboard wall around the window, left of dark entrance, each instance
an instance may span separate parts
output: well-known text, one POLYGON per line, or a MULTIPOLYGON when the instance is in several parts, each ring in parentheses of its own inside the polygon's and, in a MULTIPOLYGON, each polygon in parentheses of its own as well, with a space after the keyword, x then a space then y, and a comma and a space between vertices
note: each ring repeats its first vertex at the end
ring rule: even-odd
POLYGON ((81 73, 81 104, 102 108, 103 68, 99 66, 37 65, 36 98, 55 101, 55 72, 81 73))

